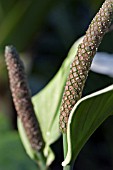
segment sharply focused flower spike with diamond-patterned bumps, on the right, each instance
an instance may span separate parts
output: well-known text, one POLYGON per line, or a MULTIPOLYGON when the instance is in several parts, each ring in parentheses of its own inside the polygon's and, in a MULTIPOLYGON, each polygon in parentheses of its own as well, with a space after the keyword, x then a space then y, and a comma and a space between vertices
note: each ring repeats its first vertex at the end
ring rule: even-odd
POLYGON ((82 96, 93 57, 111 25, 112 18, 113 0, 105 0, 89 25, 83 42, 78 47, 77 54, 70 67, 60 109, 60 130, 64 133, 67 131, 69 114, 82 96))

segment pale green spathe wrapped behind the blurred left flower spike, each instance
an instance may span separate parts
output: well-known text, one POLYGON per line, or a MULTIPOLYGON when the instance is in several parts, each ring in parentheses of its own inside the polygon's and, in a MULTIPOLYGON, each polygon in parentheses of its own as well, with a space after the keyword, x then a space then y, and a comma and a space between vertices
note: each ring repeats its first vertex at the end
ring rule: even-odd
MULTIPOLYGON (((54 159, 53 153, 50 149, 50 145, 54 143, 60 136, 59 110, 63 90, 67 76, 69 74, 70 63, 73 60, 74 55, 77 52, 77 47, 81 41, 82 38, 80 38, 74 44, 67 58, 62 64, 60 70, 55 75, 55 77, 50 81, 50 83, 40 93, 36 94, 32 98, 35 113, 40 123, 43 138, 46 144, 44 154, 48 158, 47 164, 50 164, 54 159)), ((34 152, 30 147, 27 137, 25 137, 26 135, 23 130, 21 121, 18 121, 18 127, 26 152, 29 154, 31 158, 35 159, 36 157, 34 156, 34 152)))

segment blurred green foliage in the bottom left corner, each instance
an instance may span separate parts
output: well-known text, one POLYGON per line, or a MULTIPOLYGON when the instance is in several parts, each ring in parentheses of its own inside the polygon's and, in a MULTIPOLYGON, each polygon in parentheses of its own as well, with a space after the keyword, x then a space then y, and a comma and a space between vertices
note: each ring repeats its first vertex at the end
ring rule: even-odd
POLYGON ((36 170, 35 164, 27 157, 19 135, 11 130, 8 118, 0 113, 0 169, 36 170))

